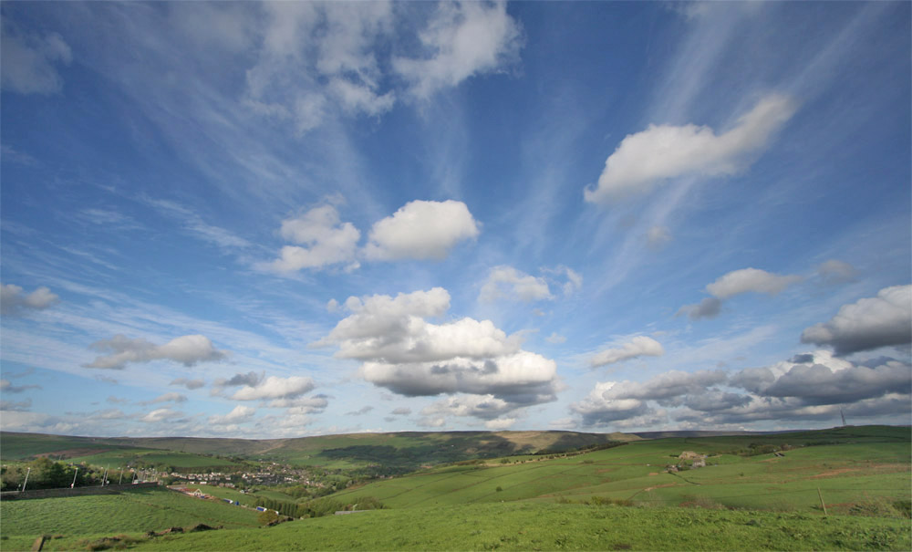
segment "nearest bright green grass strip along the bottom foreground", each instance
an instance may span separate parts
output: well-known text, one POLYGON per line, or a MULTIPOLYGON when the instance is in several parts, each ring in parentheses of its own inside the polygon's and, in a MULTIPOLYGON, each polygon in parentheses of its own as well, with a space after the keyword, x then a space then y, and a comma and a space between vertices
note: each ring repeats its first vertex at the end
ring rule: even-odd
MULTIPOLYGON (((47 550, 78 547, 78 539, 47 550)), ((504 503, 374 510, 275 527, 158 536, 137 550, 907 550, 907 520, 504 503)))

